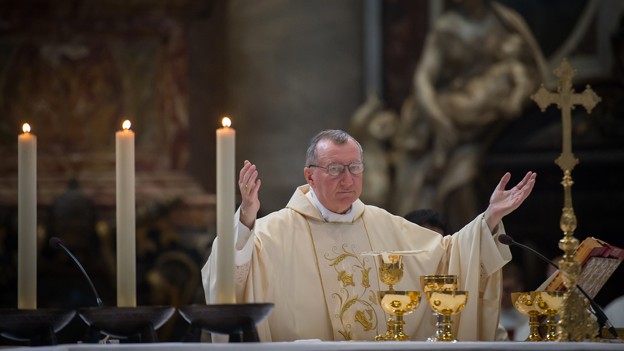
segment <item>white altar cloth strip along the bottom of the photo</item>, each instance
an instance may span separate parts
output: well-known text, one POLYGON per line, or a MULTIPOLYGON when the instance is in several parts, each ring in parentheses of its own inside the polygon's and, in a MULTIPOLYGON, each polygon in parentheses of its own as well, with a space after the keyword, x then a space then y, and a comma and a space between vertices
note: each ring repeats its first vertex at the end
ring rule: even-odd
POLYGON ((622 343, 607 342, 266 342, 266 343, 182 343, 156 344, 65 344, 37 347, 37 351, 624 351, 622 343))

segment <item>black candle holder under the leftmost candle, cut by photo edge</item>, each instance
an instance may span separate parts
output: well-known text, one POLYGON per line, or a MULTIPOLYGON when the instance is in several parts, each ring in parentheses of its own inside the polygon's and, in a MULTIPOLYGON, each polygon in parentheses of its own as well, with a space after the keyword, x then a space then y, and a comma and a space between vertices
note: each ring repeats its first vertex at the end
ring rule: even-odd
POLYGON ((56 345, 56 333, 76 315, 76 310, 0 309, 0 335, 17 341, 30 341, 31 346, 56 345))

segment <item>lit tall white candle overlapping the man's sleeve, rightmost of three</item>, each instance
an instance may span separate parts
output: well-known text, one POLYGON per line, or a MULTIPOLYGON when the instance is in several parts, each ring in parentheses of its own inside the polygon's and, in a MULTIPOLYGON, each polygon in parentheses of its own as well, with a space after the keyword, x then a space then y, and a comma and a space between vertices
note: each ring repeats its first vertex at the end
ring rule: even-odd
POLYGON ((217 302, 235 304, 234 266, 234 194, 235 141, 232 122, 223 118, 223 128, 217 129, 217 302))

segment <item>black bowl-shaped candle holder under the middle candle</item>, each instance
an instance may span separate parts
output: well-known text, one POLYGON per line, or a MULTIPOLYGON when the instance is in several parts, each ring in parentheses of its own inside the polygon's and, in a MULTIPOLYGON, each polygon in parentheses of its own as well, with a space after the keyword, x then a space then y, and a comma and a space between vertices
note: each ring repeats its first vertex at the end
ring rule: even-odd
POLYGON ((156 330, 175 312, 172 306, 89 307, 78 315, 91 330, 127 339, 139 335, 140 342, 158 342, 156 330))

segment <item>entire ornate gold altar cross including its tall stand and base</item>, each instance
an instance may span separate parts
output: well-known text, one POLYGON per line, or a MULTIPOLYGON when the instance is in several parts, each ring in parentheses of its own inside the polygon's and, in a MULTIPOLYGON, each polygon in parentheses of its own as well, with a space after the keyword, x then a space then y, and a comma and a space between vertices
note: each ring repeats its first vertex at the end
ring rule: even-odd
POLYGON ((577 227, 577 217, 572 207, 572 169, 578 164, 578 159, 572 153, 572 114, 570 111, 575 105, 582 105, 587 113, 602 101, 602 99, 587 86, 585 91, 577 94, 572 89, 572 77, 576 70, 570 66, 567 59, 563 59, 561 66, 554 73, 559 77, 557 92, 549 92, 542 87, 531 96, 531 99, 546 111, 550 104, 557 104, 561 110, 563 125, 563 151, 555 160, 555 163, 563 171, 563 194, 565 195, 559 226, 563 230, 564 237, 559 240, 559 248, 563 250, 563 259, 558 262, 559 272, 563 278, 563 285, 567 288, 560 311, 557 341, 583 341, 589 337, 592 341, 598 341, 598 324, 590 317, 589 301, 579 292, 573 290, 580 274, 580 263, 574 261, 574 251, 579 243, 573 234, 577 227))

